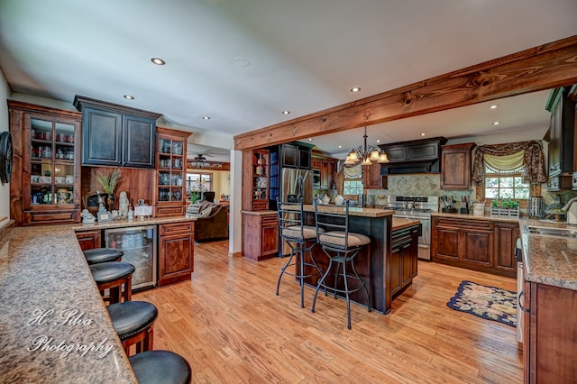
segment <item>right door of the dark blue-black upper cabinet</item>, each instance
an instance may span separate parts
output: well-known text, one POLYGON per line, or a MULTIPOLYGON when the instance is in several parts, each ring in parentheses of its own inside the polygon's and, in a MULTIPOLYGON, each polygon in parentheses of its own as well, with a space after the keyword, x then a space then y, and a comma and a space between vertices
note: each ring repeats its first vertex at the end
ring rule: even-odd
POLYGON ((124 115, 124 151, 123 166, 137 168, 154 168, 154 120, 124 115))

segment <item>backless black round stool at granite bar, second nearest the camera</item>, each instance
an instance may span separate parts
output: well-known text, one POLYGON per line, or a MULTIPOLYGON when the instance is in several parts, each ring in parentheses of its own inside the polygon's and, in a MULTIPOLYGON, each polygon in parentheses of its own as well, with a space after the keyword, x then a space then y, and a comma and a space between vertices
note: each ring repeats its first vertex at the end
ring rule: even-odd
POLYGON ((106 309, 127 356, 130 356, 130 347, 134 344, 136 353, 152 350, 152 325, 159 315, 156 306, 146 301, 124 301, 111 304, 106 309))

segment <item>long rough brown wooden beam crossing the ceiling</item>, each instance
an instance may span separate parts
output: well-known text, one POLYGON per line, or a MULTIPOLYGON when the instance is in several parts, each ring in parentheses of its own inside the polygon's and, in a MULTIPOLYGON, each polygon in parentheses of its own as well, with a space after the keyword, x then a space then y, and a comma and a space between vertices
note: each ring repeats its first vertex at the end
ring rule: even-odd
POLYGON ((234 136, 267 147, 577 82, 577 35, 234 136))

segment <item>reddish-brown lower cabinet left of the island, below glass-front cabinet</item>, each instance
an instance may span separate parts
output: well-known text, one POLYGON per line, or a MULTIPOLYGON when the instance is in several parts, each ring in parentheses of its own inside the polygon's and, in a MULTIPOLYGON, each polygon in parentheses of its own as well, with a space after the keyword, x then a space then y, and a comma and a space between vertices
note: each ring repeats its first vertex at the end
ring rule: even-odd
POLYGON ((243 255, 254 261, 270 259, 279 253, 279 216, 243 212, 243 255))

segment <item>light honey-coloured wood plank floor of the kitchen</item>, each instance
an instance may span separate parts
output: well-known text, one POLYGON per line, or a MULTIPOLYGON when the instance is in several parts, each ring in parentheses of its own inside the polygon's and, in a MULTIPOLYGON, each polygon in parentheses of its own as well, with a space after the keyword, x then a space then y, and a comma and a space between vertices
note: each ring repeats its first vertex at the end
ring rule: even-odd
POLYGON ((192 281, 133 295, 159 308, 154 349, 184 356, 193 382, 522 382, 515 328, 446 306, 463 279, 510 290, 514 279, 419 261, 392 313, 276 283, 283 259, 229 258, 228 242, 195 245, 192 281))

